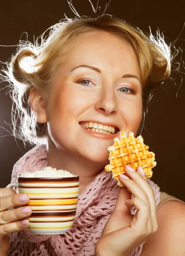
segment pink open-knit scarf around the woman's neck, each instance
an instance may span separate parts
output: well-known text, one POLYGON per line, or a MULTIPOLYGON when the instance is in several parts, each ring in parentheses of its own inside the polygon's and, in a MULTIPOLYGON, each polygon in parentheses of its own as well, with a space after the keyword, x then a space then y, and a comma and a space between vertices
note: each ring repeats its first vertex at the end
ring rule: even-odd
MULTIPOLYGON (((44 145, 28 151, 14 165, 11 182, 17 182, 23 172, 36 172, 47 166, 44 145)), ((159 187, 148 179, 159 204, 159 187)), ((28 229, 10 234, 7 256, 93 256, 94 248, 105 224, 114 210, 118 195, 117 180, 102 171, 79 195, 77 213, 71 229, 63 235, 35 235, 28 229)), ((131 208, 131 214, 137 210, 131 208)), ((142 245, 130 256, 139 256, 142 245)))

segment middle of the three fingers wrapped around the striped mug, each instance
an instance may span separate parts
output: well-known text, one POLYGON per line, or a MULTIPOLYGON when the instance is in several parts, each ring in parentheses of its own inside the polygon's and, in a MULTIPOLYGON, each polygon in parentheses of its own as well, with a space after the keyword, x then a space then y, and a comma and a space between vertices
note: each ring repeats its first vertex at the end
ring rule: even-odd
POLYGON ((0 225, 27 218, 31 215, 31 207, 21 207, 9 211, 0 212, 0 225))

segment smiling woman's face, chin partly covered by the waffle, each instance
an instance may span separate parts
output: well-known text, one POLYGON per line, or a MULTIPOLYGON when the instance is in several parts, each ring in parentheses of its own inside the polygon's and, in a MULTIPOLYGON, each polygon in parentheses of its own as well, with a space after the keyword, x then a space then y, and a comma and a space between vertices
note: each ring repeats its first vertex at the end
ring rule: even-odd
POLYGON ((108 161, 119 131, 137 133, 142 119, 142 85, 137 57, 108 32, 87 32, 65 49, 47 108, 52 143, 69 154, 108 161))

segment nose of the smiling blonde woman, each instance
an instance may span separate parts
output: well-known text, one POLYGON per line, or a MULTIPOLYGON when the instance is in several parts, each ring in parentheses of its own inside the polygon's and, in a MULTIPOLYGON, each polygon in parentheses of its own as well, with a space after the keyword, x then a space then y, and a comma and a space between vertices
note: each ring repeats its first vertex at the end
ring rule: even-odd
POLYGON ((113 88, 104 88, 100 92, 95 109, 104 115, 115 114, 117 112, 117 102, 113 88))

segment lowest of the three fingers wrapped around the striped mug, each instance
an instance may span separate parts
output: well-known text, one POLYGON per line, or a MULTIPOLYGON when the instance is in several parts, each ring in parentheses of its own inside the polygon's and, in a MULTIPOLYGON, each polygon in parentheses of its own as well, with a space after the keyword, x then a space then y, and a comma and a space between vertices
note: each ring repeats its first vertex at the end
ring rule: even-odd
POLYGON ((9 224, 0 225, 0 237, 12 232, 24 230, 28 228, 28 226, 29 226, 29 221, 27 219, 14 221, 9 224))

